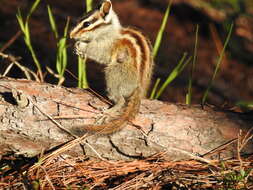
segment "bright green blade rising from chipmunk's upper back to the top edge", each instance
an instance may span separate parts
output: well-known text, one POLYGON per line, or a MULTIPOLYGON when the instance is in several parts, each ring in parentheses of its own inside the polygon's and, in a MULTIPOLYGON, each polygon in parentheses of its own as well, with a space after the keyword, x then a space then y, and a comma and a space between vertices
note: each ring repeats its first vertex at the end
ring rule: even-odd
POLYGON ((159 47, 160 47, 161 42, 162 42, 163 33, 164 33, 164 30, 165 30, 165 27, 166 27, 166 24, 167 24, 167 21, 168 21, 168 17, 169 17, 169 14, 170 14, 171 4, 172 4, 172 0, 168 4, 168 7, 167 7, 167 9, 165 11, 165 14, 164 14, 164 17, 163 17, 161 27, 158 31, 157 36, 156 36, 155 45, 154 45, 154 48, 153 48, 153 57, 154 57, 154 59, 157 55, 157 52, 158 52, 159 47))

